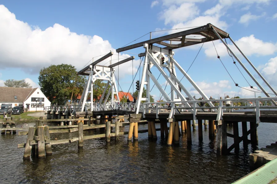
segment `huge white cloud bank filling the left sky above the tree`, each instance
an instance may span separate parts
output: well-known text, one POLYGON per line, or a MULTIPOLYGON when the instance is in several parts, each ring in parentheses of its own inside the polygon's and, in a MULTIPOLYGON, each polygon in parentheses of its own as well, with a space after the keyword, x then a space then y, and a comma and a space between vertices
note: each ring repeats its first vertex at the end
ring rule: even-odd
MULTIPOLYGON (((112 48, 100 36, 78 35, 60 24, 41 30, 16 19, 5 6, 0 5, 0 64, 2 67, 20 67, 25 72, 37 73, 51 64, 72 64, 80 70, 92 57, 108 53, 112 48)), ((121 55, 120 55, 121 56, 121 55)), ((113 56, 112 59, 116 59, 113 56)), ((109 58, 110 59, 110 58, 109 58)), ((106 59, 102 63, 106 63, 106 59)), ((132 73, 131 62, 120 65, 120 75, 132 73)), ((138 62, 134 62, 137 67, 138 62)))

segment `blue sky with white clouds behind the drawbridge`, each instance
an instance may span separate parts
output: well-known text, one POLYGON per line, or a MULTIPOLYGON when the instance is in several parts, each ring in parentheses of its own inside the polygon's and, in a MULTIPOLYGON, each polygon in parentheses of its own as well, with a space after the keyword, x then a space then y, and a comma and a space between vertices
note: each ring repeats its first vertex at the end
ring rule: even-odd
MULTIPOLYGON (((170 29, 203 26, 207 23, 228 32, 259 72, 277 90, 275 0, 0 0, 0 86, 4 86, 7 79, 25 79, 33 87, 39 87, 38 76, 43 67, 65 63, 72 64, 79 71, 91 63, 92 58, 97 59, 96 56, 113 51, 113 63, 117 62, 118 57, 123 59, 135 56, 133 61, 122 64, 119 68, 115 67, 115 75, 121 86, 119 90, 127 92, 130 88, 129 91, 133 92, 135 84, 133 89, 132 74, 135 75, 138 71, 140 63, 136 54, 144 49, 139 47, 128 51, 134 54, 121 52, 118 55, 117 48, 134 40, 131 44, 148 40, 149 32, 152 32, 152 38, 155 38, 186 30, 170 29), (143 37, 138 39, 141 36, 143 37)), ((226 41, 229 44, 229 39, 226 41)), ((216 40, 214 45, 208 42, 204 43, 201 49, 199 44, 179 48, 175 50, 174 59, 188 71, 208 97, 217 99, 224 95, 241 98, 265 96, 259 93, 260 88, 239 63, 237 62, 239 69, 233 64, 223 43, 216 40), (232 78, 217 58, 215 48, 232 78), (243 88, 236 87, 235 83, 243 88)), ((234 45, 231 43, 229 46, 262 87, 268 93, 273 93, 234 45)), ((100 64, 109 65, 109 60, 100 64)), ((160 73, 153 67, 153 74, 157 79, 160 73)), ((141 74, 138 72, 134 82, 139 80, 139 76, 141 74)), ((179 71, 177 78, 183 78, 179 71)), ((158 81, 163 88, 167 86, 165 91, 169 93, 169 85, 166 85, 163 76, 160 76, 158 81)), ((181 82, 193 96, 201 97, 185 77, 181 82)), ((153 82, 150 82, 150 85, 152 88, 153 82)), ((156 86, 153 87, 151 95, 155 100, 160 100, 160 91, 156 86)))

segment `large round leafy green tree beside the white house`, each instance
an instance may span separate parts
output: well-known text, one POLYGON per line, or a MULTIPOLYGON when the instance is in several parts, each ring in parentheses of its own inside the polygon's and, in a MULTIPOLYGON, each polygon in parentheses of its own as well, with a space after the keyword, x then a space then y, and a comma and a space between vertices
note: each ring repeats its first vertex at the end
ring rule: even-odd
MULTIPOLYGON (((52 103, 64 104, 71 98, 76 77, 76 69, 70 64, 51 65, 40 70, 38 77, 40 90, 52 103)), ((86 84, 85 76, 77 76, 76 88, 73 95, 77 97, 82 94, 86 84)))

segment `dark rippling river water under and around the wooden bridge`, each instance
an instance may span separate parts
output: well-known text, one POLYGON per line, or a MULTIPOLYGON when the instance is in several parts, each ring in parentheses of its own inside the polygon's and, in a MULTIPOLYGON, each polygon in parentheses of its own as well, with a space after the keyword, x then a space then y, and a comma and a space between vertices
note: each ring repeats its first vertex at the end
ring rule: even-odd
MULTIPOLYGON (((241 123, 239 127, 241 136, 241 123)), ((147 129, 147 125, 139 129, 147 129)), ((179 147, 168 147, 160 132, 157 141, 148 141, 148 134, 142 133, 134 143, 127 143, 127 135, 117 144, 114 137, 109 144, 104 138, 86 140, 83 150, 78 150, 77 141, 52 145, 52 156, 30 161, 22 159, 24 148, 17 149, 27 136, 1 135, 0 183, 231 183, 250 172, 249 153, 277 141, 276 129, 277 124, 260 123, 258 146, 249 144, 243 149, 241 143, 239 153, 232 151, 221 157, 216 156, 216 140, 208 138, 204 127, 204 140, 198 141, 196 130, 192 132, 192 145, 187 145, 185 134, 179 147)), ((232 127, 228 132, 232 133, 232 127)), ((96 133, 99 130, 85 131, 85 135, 96 133)), ((51 134, 51 139, 72 137, 77 137, 77 132, 51 134)), ((232 142, 228 137, 228 145, 232 142)))

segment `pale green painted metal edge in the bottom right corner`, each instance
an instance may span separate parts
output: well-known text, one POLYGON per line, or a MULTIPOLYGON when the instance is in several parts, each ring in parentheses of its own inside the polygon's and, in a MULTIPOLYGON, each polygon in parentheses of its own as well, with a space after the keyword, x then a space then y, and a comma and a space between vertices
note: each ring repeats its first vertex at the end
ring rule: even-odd
MULTIPOLYGON (((247 174, 233 184, 268 184, 277 177, 277 158, 247 174)), ((277 180, 276 180, 277 181, 277 180)), ((273 182, 275 183, 275 181, 273 182)))

